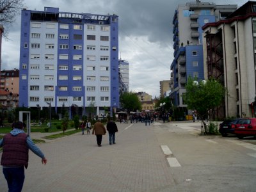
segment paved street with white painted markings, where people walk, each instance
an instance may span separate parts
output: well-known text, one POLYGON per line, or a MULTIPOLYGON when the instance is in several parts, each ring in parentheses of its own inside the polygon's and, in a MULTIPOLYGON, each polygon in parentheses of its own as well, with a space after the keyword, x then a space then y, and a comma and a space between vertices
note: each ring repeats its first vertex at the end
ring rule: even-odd
MULTIPOLYGON (((115 145, 106 134, 98 147, 81 132, 38 144, 48 162, 29 152, 22 191, 255 191, 253 144, 198 136, 197 122, 117 125, 115 145)), ((3 173, 0 191, 8 191, 3 173)))

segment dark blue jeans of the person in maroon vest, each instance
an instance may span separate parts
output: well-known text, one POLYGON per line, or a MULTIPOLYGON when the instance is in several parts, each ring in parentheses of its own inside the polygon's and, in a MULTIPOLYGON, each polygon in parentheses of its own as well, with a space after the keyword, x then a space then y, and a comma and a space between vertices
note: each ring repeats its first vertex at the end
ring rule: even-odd
POLYGON ((9 192, 20 192, 25 180, 24 166, 15 168, 3 168, 4 177, 7 180, 9 192))

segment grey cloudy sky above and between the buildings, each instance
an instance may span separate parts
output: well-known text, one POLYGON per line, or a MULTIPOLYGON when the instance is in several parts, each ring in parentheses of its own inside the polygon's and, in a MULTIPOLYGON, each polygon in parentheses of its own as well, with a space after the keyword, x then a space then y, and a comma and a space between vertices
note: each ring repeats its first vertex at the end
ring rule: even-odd
MULTIPOLYGON (((170 79, 173 60, 172 19, 184 0, 24 0, 28 10, 45 6, 60 12, 116 14, 119 16, 119 58, 129 61, 130 91, 159 97, 159 81, 170 79)), ((206 2, 206 1, 205 1, 206 2)), ((212 0, 216 4, 243 5, 247 0, 212 0)), ((2 44, 1 70, 19 68, 20 16, 2 44)))

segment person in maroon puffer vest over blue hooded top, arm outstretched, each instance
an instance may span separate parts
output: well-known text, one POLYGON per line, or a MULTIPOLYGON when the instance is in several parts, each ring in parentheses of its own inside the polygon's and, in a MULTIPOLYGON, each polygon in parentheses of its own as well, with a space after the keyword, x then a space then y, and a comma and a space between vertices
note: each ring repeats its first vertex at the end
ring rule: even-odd
POLYGON ((14 129, 0 140, 0 147, 3 147, 1 165, 9 191, 22 190, 25 179, 24 167, 28 168, 29 149, 42 158, 43 164, 47 163, 40 148, 36 147, 24 132, 22 122, 15 122, 14 129))

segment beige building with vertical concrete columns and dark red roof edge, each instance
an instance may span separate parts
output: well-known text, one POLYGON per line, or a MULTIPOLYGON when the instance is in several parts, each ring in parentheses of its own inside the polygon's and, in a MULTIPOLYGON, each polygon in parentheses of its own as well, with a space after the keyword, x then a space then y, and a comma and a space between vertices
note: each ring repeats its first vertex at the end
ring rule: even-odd
POLYGON ((206 24, 202 29, 205 79, 218 79, 228 92, 219 112, 226 117, 254 116, 256 2, 248 1, 225 20, 206 24))

